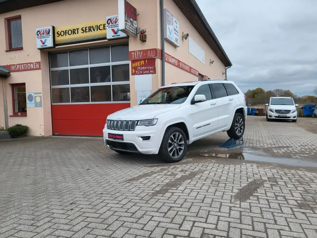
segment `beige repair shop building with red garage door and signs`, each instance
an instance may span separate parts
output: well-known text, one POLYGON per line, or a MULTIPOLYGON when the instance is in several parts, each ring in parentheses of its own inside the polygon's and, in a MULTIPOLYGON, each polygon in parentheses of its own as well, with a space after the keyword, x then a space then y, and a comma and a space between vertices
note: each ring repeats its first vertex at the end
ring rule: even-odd
POLYGON ((101 136, 107 115, 231 62, 195 0, 0 0, 0 66, 0 126, 101 136))

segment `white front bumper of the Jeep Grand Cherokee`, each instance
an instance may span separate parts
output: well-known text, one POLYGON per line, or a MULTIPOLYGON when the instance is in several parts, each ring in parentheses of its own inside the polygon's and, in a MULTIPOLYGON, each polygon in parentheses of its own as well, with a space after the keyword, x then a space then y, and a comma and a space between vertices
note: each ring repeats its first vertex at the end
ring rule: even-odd
POLYGON ((103 140, 105 145, 113 150, 155 155, 159 153, 162 133, 163 124, 136 126, 134 131, 109 130, 106 124, 103 140), (108 134, 123 135, 123 140, 111 139, 108 134))

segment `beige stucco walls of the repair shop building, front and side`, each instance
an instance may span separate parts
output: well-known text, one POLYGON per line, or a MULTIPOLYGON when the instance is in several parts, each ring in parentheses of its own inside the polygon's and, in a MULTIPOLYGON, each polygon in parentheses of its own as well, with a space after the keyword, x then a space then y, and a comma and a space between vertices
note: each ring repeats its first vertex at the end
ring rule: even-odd
MULTIPOLYGON (((161 48, 160 36, 160 5, 159 0, 129 0, 136 7, 138 16, 138 26, 146 29, 147 41, 139 41, 139 37, 129 37, 114 41, 98 41, 90 43, 73 44, 56 47, 49 50, 36 49, 35 29, 39 27, 53 25, 55 27, 68 26, 78 23, 106 19, 109 15, 118 13, 117 0, 65 0, 57 3, 41 5, 37 7, 17 10, 0 15, 0 32, 5 32, 5 18, 21 15, 23 32, 23 50, 6 51, 7 36, 0 34, 0 65, 41 62, 41 70, 11 72, 11 76, 5 79, 5 90, 7 93, 9 125, 21 123, 30 127, 28 135, 50 136, 52 135, 51 120, 51 99, 49 81, 48 52, 56 50, 69 50, 84 48, 96 45, 106 45, 112 43, 129 42, 129 50, 145 50, 161 48), (11 83, 26 83, 26 92, 42 92, 42 108, 28 108, 27 117, 16 117, 12 115, 12 93, 11 83)), ((201 63, 188 52, 188 40, 182 40, 180 36, 180 47, 175 48, 165 41, 165 52, 183 61, 189 66, 197 69, 200 74, 210 78, 225 78, 222 71, 224 65, 213 53, 203 38, 196 32, 187 18, 181 13, 172 0, 164 1, 164 8, 167 8, 179 21, 180 35, 184 31, 202 47, 205 51, 206 64, 201 63), (209 65, 209 60, 215 62, 209 65)), ((156 59, 156 75, 152 75, 152 90, 161 86, 161 60, 156 59)), ((131 62, 130 62, 131 67, 131 62)), ((131 69, 131 68, 130 68, 131 69)), ((165 85, 175 82, 187 82, 198 80, 184 70, 165 63, 165 85)), ((0 90, 1 91, 1 90, 0 90)), ((134 76, 130 76, 131 106, 137 104, 137 93, 134 88, 134 76)), ((3 99, 0 92, 0 111, 3 111, 3 99)), ((4 115, 0 113, 0 125, 4 124, 4 115)))

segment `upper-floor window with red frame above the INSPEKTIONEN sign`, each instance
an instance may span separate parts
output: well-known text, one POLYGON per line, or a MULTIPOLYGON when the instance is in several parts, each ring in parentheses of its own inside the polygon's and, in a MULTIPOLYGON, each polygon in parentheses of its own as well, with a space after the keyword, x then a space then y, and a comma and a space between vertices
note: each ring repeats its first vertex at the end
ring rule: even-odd
POLYGON ((8 19, 9 50, 23 49, 21 17, 8 19))

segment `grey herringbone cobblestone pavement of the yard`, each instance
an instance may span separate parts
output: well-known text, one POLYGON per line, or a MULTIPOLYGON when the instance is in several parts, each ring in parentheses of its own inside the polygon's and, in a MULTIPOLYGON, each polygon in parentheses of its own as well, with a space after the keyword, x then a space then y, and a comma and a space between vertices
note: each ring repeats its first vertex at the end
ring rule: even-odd
MULTIPOLYGON (((317 135, 297 123, 247 122, 247 153, 314 160, 317 135)), ((176 164, 100 138, 0 141, 0 238, 316 238, 317 168, 204 156, 243 150, 218 148, 226 139, 176 164)))

